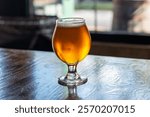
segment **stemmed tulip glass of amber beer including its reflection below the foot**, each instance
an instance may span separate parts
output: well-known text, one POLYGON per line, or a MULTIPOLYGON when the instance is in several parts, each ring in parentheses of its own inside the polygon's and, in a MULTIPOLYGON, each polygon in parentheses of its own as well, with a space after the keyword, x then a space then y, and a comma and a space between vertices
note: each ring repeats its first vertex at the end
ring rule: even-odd
POLYGON ((60 18, 52 37, 53 50, 67 64, 68 73, 58 83, 68 87, 67 99, 79 99, 77 86, 87 82, 77 73, 77 64, 89 53, 91 38, 83 18, 60 18))

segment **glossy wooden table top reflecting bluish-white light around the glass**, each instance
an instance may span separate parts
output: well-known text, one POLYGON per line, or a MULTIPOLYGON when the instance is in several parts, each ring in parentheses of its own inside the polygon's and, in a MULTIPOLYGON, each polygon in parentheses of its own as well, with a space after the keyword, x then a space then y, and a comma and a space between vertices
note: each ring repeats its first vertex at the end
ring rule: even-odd
MULTIPOLYGON (((53 52, 0 49, 0 99, 60 100, 58 84, 67 66, 53 52)), ((150 60, 88 55, 78 65, 88 82, 78 87, 82 99, 150 99, 150 60)))

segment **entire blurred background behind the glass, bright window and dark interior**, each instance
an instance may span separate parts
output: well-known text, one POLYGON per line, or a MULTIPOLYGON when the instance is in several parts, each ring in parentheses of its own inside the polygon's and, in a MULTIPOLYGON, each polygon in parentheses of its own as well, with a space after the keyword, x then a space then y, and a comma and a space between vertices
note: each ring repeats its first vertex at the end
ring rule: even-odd
POLYGON ((52 51, 55 20, 83 17, 90 54, 150 58, 150 0, 0 0, 0 47, 52 51))

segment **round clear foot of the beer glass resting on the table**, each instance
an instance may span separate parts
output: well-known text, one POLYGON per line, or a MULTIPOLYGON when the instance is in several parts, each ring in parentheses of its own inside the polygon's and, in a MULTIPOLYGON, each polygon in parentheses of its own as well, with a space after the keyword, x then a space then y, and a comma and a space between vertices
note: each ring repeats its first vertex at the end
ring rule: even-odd
POLYGON ((66 76, 60 77, 58 83, 63 86, 79 86, 87 82, 87 78, 67 79, 66 76))

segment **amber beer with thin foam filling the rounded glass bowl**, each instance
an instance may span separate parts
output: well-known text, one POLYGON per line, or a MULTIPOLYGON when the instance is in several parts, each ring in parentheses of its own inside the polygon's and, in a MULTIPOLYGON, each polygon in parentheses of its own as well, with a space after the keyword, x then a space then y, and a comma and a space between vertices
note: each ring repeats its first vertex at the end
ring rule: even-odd
POLYGON ((65 63, 74 65, 86 57, 91 38, 85 22, 57 23, 53 35, 53 49, 65 63))

